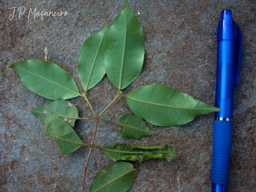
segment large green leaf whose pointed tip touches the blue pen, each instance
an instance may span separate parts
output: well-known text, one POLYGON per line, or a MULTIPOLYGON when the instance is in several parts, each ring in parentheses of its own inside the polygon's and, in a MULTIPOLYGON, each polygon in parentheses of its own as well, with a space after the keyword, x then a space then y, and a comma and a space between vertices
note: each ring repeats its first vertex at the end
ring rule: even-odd
POLYGON ((125 97, 134 114, 158 126, 182 125, 198 115, 221 110, 165 85, 146 85, 125 97))

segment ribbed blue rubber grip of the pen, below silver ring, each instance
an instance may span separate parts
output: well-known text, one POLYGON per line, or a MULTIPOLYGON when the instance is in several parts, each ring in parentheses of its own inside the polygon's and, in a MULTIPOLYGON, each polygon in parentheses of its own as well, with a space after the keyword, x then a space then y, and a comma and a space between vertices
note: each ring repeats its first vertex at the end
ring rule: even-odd
POLYGON ((229 178, 232 121, 214 120, 213 127, 211 182, 226 185, 229 178))

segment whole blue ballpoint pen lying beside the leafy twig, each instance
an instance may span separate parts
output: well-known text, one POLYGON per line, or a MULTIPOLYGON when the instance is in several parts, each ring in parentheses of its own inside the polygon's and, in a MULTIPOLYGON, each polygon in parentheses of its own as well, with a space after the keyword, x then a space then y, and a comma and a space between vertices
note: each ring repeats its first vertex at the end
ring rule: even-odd
POLYGON ((232 135, 233 88, 238 86, 241 64, 242 33, 230 10, 221 12, 217 34, 217 75, 212 138, 212 192, 225 192, 229 177, 232 135))

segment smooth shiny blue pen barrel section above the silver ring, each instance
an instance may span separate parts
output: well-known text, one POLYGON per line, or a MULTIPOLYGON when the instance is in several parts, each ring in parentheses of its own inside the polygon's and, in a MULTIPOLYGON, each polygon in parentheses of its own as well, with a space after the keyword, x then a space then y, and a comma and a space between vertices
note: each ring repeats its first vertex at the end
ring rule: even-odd
POLYGON ((233 116, 234 54, 234 41, 218 41, 215 107, 222 110, 215 112, 215 117, 233 116))

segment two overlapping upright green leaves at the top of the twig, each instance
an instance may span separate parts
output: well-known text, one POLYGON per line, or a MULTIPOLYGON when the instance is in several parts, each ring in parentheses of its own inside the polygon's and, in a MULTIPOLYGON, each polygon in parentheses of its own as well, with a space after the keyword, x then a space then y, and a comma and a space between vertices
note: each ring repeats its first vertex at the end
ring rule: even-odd
POLYGON ((82 45, 78 59, 78 76, 85 92, 108 75, 119 90, 140 74, 144 60, 144 35, 139 20, 128 1, 124 10, 101 31, 91 35, 82 45))

